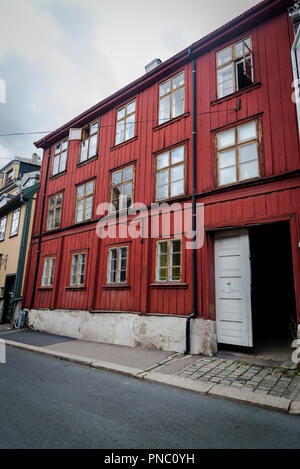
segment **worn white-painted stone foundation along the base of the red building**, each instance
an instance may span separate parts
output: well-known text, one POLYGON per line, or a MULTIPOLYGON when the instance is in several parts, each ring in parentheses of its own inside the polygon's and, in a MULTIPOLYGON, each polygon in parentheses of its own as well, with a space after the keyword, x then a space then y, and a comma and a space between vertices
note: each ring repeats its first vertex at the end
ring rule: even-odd
MULTIPOLYGON (((181 353, 185 350, 186 318, 32 309, 29 310, 27 321, 32 329, 81 340, 181 353)), ((212 356, 216 351, 215 321, 193 319, 191 353, 212 356)))

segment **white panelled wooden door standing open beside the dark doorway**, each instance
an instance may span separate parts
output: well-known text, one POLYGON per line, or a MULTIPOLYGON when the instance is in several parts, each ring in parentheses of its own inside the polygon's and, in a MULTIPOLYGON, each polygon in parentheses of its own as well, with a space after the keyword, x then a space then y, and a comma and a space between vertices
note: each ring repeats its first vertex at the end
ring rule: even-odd
POLYGON ((251 267, 247 230, 215 235, 217 341, 253 346, 251 267))

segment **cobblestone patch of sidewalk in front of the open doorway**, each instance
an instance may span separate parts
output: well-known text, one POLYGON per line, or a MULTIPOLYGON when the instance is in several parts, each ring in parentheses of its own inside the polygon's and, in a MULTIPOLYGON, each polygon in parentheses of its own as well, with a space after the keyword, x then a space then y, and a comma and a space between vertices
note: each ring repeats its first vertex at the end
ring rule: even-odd
POLYGON ((243 391, 300 400, 300 372, 296 369, 203 357, 179 371, 177 375, 235 386, 243 391))

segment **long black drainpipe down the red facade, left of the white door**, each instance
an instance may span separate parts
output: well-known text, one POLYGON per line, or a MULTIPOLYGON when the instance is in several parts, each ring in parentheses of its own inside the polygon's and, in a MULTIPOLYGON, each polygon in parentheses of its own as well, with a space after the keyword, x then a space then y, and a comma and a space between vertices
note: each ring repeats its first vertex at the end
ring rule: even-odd
POLYGON ((193 249, 192 249, 192 269, 193 269, 193 312, 187 317, 186 321, 186 348, 185 354, 190 353, 191 348, 191 320, 198 316, 197 307, 197 249, 196 249, 196 63, 191 49, 188 51, 192 62, 192 230, 193 249))

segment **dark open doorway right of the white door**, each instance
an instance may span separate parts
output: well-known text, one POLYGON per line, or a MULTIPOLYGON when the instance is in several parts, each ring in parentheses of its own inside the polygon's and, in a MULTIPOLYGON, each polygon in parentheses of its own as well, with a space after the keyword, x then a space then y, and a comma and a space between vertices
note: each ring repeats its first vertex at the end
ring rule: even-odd
POLYGON ((297 316, 288 222, 249 228, 252 327, 256 352, 289 350, 297 316))

